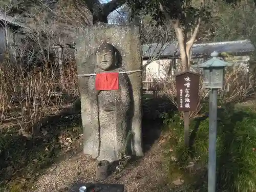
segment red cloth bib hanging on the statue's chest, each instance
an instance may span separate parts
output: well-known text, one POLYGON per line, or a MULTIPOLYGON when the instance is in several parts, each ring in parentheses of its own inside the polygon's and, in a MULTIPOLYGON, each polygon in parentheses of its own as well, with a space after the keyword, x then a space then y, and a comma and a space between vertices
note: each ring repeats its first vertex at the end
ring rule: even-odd
POLYGON ((96 74, 95 80, 96 90, 118 90, 119 79, 118 73, 99 73, 96 74))

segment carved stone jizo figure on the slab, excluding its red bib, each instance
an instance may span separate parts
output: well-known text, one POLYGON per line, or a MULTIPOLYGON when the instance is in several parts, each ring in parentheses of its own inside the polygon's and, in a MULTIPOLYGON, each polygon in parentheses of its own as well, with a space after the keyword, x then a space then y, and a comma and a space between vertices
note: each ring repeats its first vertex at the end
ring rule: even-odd
MULTIPOLYGON (((103 43, 96 50, 95 73, 121 72, 121 56, 109 43, 103 43)), ((109 162, 120 159, 126 150, 126 136, 131 129, 131 86, 127 74, 119 74, 119 89, 100 91, 95 89, 96 76, 88 81, 90 96, 91 129, 95 136, 85 141, 84 153, 93 158, 109 162)))

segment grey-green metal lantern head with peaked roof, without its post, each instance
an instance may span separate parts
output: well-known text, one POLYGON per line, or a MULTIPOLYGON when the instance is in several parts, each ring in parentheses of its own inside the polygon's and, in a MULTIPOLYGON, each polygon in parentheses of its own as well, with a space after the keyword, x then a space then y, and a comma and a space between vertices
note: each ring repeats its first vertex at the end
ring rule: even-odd
POLYGON ((203 68, 203 88, 223 89, 225 67, 229 66, 229 63, 217 58, 216 51, 212 52, 210 56, 212 57, 210 60, 192 67, 203 68))

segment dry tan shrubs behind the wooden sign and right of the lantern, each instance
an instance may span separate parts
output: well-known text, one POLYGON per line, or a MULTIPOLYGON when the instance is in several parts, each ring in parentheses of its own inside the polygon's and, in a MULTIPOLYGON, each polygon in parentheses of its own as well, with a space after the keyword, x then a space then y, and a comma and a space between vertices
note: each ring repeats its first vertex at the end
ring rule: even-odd
MULTIPOLYGON (((200 71, 196 71, 201 73, 200 71)), ((254 81, 256 73, 247 72, 245 69, 237 68, 227 68, 225 73, 225 83, 224 89, 219 90, 219 95, 221 96, 221 103, 229 102, 240 102, 248 99, 249 97, 254 98, 256 82, 254 81)), ((162 83, 161 91, 168 96, 170 100, 178 107, 176 101, 176 81, 174 77, 166 76, 162 83)), ((197 110, 190 112, 190 117, 195 117, 202 112, 203 102, 207 101, 209 91, 202 88, 202 78, 200 78, 199 84, 199 97, 197 110)), ((208 104, 206 102, 206 104, 208 104)), ((181 118, 183 113, 181 113, 181 118)))

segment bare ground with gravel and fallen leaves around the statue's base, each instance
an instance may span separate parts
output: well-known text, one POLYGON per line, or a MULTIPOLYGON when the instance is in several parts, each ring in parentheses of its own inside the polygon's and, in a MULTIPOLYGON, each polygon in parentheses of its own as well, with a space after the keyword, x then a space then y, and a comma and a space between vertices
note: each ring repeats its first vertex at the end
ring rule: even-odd
POLYGON ((81 115, 68 110, 47 122, 50 123, 42 127, 41 137, 35 140, 7 133, 9 151, 2 154, 0 183, 8 184, 11 191, 72 192, 78 183, 124 184, 128 192, 169 191, 159 142, 161 121, 143 120, 144 156, 131 160, 103 182, 96 180, 97 162, 82 152, 81 115))

